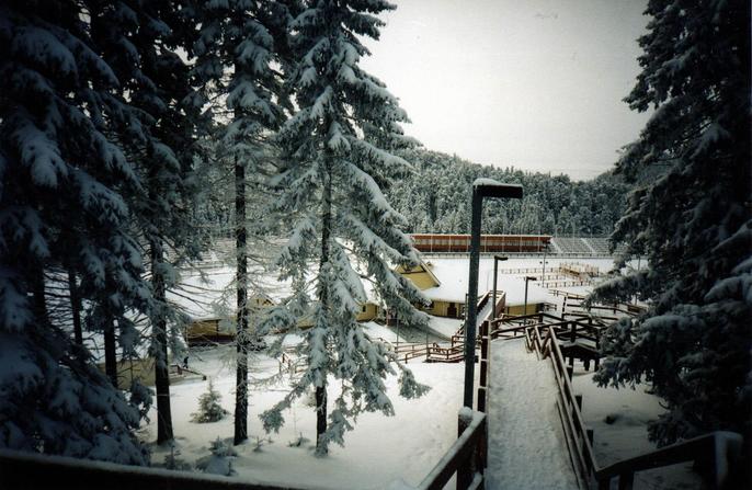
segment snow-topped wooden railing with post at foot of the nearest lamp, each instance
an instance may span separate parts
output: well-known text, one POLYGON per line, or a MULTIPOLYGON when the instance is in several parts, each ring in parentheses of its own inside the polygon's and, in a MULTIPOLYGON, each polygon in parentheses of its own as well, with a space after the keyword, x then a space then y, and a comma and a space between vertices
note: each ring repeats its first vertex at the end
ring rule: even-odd
POLYGON ((487 461, 486 414, 469 409, 460 411, 459 436, 442 459, 423 478, 417 490, 441 490, 457 474, 457 490, 483 488, 487 461))

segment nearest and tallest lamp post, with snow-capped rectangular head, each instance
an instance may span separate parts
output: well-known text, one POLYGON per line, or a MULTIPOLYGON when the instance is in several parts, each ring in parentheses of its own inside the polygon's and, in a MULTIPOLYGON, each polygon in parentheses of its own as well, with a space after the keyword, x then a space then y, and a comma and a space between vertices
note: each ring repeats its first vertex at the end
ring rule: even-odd
POLYGON ((470 275, 467 282, 467 315, 465 317, 465 392, 463 404, 472 408, 475 376, 476 323, 478 321, 478 265, 480 262, 480 219, 485 197, 522 198, 522 185, 502 184, 492 179, 476 179, 472 183, 472 221, 470 226, 470 275))

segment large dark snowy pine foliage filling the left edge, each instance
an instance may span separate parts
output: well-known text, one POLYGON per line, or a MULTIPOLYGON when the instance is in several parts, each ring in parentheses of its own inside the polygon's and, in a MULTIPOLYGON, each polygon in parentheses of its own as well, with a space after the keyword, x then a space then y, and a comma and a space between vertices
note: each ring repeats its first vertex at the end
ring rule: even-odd
POLYGON ((121 192, 140 185, 109 121, 127 106, 80 2, 0 4, 0 446, 146 464, 139 412, 47 315, 72 267, 89 319, 149 297, 121 192))

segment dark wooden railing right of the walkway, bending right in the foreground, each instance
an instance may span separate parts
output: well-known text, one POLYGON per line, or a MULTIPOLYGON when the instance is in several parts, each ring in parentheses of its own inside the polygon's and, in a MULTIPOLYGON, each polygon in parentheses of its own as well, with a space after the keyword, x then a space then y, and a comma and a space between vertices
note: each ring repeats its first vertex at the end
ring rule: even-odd
POLYGON ((726 488, 729 466, 740 454, 742 445, 741 435, 731 432, 714 432, 600 467, 593 451, 593 431, 586 428, 582 417, 582 396, 574 394, 571 383, 573 371, 565 363, 556 328, 538 324, 528 327, 525 343, 539 357, 551 360, 558 386, 557 408, 581 488, 588 489, 594 482, 600 490, 606 490, 611 488, 611 481, 617 478, 619 490, 628 490, 633 488, 637 471, 685 461, 709 463, 713 472, 711 488, 726 488), (545 334, 542 330, 545 330, 545 334))

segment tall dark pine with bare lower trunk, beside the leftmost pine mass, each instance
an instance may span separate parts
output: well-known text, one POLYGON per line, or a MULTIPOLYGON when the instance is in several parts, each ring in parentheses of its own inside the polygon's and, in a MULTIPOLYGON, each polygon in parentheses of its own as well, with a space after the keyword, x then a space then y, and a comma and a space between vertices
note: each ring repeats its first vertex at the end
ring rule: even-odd
POLYGON ((167 300, 178 281, 174 266, 198 258, 206 233, 193 226, 193 204, 202 182, 193 171, 194 140, 205 129, 196 107, 189 67, 175 49, 192 43, 194 20, 179 2, 117 2, 94 18, 98 45, 104 50, 130 111, 115 121, 119 138, 137 163, 144 187, 129 198, 133 226, 148 249, 151 301, 149 323, 156 364, 157 442, 173 437, 168 374, 169 326, 179 312, 167 300), (138 127, 134 132, 130 128, 138 127), (170 251, 171 261, 167 260, 170 251))

